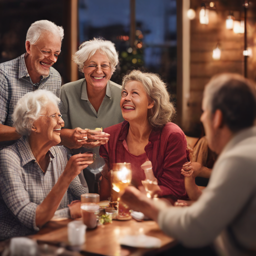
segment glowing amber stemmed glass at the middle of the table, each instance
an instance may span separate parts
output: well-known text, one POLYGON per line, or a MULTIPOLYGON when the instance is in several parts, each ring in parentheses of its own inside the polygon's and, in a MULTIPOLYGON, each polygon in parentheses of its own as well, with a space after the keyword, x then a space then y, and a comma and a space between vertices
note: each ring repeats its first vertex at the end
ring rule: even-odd
MULTIPOLYGON (((129 208, 120 201, 120 196, 131 181, 131 168, 129 162, 113 163, 111 170, 112 194, 118 194, 118 219, 130 217, 129 208)), ((113 199, 113 198, 112 198, 113 199)))

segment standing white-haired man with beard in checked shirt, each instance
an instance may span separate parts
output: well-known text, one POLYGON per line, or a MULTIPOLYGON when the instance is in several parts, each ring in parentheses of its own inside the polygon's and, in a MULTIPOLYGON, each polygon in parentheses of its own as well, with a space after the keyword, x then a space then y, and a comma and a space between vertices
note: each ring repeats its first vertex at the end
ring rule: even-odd
POLYGON ((52 67, 60 53, 63 28, 38 20, 26 33, 26 52, 0 64, 0 146, 20 135, 12 127, 14 106, 19 98, 35 89, 47 89, 59 97, 61 77, 52 67))

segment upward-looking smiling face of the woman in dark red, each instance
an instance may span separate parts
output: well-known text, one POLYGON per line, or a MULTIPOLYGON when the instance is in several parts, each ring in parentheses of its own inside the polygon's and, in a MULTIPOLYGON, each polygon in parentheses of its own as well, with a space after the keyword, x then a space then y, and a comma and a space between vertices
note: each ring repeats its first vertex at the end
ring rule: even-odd
POLYGON ((143 84, 139 81, 129 81, 121 92, 120 107, 126 121, 143 120, 147 118, 148 109, 153 107, 143 84))

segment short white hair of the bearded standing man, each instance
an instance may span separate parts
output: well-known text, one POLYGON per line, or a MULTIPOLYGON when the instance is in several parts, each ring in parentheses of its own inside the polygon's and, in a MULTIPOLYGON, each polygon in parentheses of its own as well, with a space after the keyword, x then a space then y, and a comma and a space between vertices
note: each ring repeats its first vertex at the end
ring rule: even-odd
POLYGON ((44 31, 59 35, 61 41, 64 37, 64 29, 62 26, 57 26, 55 23, 43 19, 37 20, 30 25, 26 33, 26 41, 29 41, 30 44, 34 44, 44 31))

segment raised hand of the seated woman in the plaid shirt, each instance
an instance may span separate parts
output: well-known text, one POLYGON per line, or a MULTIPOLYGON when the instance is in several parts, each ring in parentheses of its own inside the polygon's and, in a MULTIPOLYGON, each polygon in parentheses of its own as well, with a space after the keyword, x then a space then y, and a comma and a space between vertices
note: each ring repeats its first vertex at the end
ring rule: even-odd
POLYGON ((67 161, 63 174, 73 180, 73 178, 77 176, 81 172, 81 170, 83 170, 93 162, 92 157, 92 153, 86 152, 72 155, 67 161))

